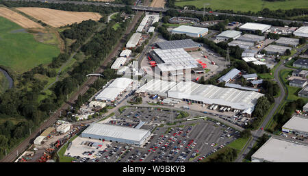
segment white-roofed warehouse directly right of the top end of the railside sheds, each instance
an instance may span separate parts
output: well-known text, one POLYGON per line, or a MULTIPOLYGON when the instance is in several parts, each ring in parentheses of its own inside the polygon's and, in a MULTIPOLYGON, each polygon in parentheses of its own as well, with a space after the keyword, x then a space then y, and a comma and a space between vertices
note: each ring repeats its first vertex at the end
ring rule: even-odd
POLYGON ((188 25, 180 25, 179 27, 172 29, 172 34, 186 34, 191 37, 203 37, 207 35, 209 29, 203 27, 193 27, 188 25))

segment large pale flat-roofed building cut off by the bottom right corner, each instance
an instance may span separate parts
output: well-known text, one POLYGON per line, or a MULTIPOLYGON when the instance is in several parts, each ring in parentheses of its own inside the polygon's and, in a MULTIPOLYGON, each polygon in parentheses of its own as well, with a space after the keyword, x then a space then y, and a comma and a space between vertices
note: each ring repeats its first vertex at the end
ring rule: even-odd
POLYGON ((251 156, 251 162, 308 162, 307 153, 307 145, 271 137, 251 156))

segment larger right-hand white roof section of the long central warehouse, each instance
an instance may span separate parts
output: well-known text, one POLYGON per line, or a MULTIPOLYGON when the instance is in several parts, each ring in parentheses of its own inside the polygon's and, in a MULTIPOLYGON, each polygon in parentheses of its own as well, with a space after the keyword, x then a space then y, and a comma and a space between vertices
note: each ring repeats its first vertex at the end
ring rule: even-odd
POLYGON ((207 104, 229 106, 238 110, 254 107, 263 94, 235 88, 220 88, 213 85, 196 84, 181 81, 168 91, 168 97, 175 99, 192 99, 207 104))

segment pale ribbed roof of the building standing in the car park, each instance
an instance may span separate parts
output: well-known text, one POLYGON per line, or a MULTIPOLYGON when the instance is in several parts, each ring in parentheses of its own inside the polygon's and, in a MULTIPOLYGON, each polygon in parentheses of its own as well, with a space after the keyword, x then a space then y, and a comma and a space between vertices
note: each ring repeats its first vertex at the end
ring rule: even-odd
POLYGON ((103 123, 92 123, 86 130, 81 134, 93 134, 99 136, 106 136, 110 138, 121 138, 126 140, 140 141, 149 130, 136 129, 131 127, 123 127, 118 125, 108 125, 103 123))

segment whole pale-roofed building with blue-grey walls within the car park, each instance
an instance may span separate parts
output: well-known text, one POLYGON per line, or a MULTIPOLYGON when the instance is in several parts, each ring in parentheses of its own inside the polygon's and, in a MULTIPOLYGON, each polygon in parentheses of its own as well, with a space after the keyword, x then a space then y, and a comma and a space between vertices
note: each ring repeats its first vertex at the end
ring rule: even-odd
POLYGON ((81 138, 92 138, 142 146, 142 143, 150 134, 151 131, 146 129, 92 123, 81 133, 81 138))

